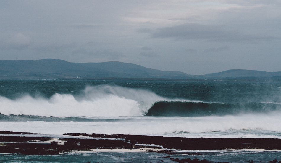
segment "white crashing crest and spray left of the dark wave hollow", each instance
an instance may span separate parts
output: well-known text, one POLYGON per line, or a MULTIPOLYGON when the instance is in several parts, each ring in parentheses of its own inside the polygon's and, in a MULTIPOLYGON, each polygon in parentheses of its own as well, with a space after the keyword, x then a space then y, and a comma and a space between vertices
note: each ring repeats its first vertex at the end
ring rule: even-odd
POLYGON ((143 116, 152 105, 166 100, 153 92, 119 86, 87 86, 81 95, 56 93, 51 98, 25 95, 11 100, 0 96, 0 113, 53 117, 143 116))

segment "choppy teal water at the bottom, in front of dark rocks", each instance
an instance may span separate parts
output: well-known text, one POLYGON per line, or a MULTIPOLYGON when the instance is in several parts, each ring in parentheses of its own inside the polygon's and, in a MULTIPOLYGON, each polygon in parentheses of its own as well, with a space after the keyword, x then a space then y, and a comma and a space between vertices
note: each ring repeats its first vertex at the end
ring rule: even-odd
MULTIPOLYGON (((192 151, 194 152, 194 151, 192 151)), ((173 158, 186 159, 198 158, 207 159, 211 162, 269 162, 274 159, 281 159, 281 151, 266 150, 221 150, 221 151, 196 151, 202 155, 172 155, 173 158)), ((39 156, 39 155, 17 155, 0 154, 0 162, 126 162, 126 163, 149 163, 149 162, 173 162, 169 158, 164 158, 167 154, 140 151, 86 151, 71 152, 60 155, 39 156), (162 160, 162 161, 161 161, 162 160)))

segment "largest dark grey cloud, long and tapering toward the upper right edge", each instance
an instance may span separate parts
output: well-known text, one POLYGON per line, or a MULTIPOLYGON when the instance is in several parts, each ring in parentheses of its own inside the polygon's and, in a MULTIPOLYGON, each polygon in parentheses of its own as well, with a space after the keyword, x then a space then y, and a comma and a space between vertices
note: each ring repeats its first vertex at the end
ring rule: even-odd
POLYGON ((258 41, 277 39, 274 36, 250 35, 238 31, 225 30, 220 26, 187 23, 173 27, 158 28, 153 38, 175 38, 179 40, 201 39, 207 41, 258 41))

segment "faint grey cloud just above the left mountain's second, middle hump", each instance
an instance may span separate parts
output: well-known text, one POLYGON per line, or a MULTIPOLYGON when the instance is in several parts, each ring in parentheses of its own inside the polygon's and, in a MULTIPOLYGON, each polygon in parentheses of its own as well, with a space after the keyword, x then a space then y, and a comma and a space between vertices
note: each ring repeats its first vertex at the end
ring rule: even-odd
POLYGON ((106 58, 109 60, 118 60, 122 57, 125 57, 125 55, 122 52, 111 51, 109 49, 99 50, 96 52, 90 52, 89 55, 93 55, 96 57, 102 57, 102 58, 106 58))

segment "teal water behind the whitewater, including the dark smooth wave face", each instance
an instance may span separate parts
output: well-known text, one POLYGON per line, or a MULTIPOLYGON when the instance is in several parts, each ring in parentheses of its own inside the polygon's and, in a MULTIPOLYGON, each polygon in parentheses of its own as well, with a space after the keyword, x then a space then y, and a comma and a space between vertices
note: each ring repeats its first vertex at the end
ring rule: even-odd
POLYGON ((0 85, 0 96, 12 100, 25 95, 49 99, 56 93, 85 97, 86 86, 103 85, 148 90, 167 99, 180 99, 156 101, 145 112, 146 116, 225 116, 269 113, 281 108, 281 84, 270 82, 0 80, 0 85))

